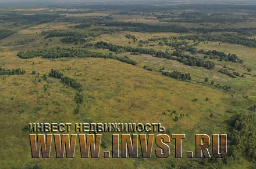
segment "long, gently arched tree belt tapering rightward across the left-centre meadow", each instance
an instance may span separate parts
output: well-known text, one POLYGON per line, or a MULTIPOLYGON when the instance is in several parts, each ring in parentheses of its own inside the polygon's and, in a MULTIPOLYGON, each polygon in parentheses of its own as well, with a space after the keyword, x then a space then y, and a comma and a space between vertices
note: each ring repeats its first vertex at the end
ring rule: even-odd
POLYGON ((90 50, 82 50, 82 49, 42 49, 42 50, 29 50, 27 52, 19 52, 17 56, 20 58, 34 58, 41 56, 42 58, 62 58, 62 57, 98 57, 98 58, 112 58, 118 61, 122 61, 123 63, 137 65, 136 61, 130 60, 127 57, 119 57, 113 56, 112 54, 102 54, 99 52, 92 52, 90 50))

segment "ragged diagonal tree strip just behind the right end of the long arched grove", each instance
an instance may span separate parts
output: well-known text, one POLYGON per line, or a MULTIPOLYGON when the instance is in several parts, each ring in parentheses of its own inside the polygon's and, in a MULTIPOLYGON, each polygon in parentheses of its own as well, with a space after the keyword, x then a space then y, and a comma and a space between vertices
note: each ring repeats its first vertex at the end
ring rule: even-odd
POLYGON ((134 49, 133 47, 130 47, 130 46, 113 45, 111 43, 106 43, 102 41, 95 43, 94 46, 98 47, 99 49, 100 48, 109 49, 110 51, 116 52, 116 53, 131 52, 131 54, 138 54, 138 53, 151 54, 154 57, 164 57, 171 60, 177 60, 186 65, 204 67, 207 69, 214 69, 215 67, 215 63, 213 63, 212 61, 206 61, 194 56, 190 56, 188 54, 183 54, 181 50, 176 50, 173 53, 161 52, 161 50, 157 52, 152 48, 143 49, 143 48, 137 47, 134 49))

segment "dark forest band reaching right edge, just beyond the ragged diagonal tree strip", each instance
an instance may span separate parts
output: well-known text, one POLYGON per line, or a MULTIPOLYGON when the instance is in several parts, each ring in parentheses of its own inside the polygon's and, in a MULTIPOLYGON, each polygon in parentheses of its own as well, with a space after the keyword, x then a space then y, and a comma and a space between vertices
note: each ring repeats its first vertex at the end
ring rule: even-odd
POLYGON ((256 47, 256 40, 244 38, 234 34, 222 34, 222 35, 187 35, 179 36, 180 40, 194 40, 194 41, 209 41, 209 42, 222 42, 222 43, 233 43, 237 45, 244 45, 248 47, 256 47))

